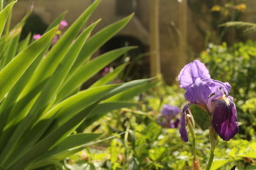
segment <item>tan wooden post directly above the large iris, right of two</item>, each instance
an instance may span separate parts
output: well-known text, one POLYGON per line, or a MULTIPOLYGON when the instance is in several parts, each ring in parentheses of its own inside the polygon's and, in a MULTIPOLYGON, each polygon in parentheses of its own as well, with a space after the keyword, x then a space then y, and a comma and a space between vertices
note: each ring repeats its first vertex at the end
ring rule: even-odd
POLYGON ((184 67, 187 60, 188 4, 187 0, 179 1, 179 68, 184 67))

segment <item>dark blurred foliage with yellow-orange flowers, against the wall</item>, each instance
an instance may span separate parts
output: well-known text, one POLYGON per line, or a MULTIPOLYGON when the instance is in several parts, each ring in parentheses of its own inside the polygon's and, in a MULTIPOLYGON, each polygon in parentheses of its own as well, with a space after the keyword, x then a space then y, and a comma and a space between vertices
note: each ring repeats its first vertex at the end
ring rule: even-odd
POLYGON ((245 38, 243 31, 220 27, 220 24, 241 20, 246 11, 246 0, 190 0, 188 7, 193 24, 205 37, 206 43, 226 41, 232 44, 234 41, 243 41, 245 38))

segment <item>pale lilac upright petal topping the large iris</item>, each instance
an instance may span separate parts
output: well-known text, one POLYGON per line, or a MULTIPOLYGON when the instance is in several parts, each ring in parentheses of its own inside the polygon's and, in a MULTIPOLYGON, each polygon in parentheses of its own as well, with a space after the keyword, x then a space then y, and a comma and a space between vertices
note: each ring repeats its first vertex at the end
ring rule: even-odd
POLYGON ((187 64, 179 73, 180 87, 188 90, 188 88, 195 83, 196 78, 205 79, 211 78, 209 70, 205 67, 204 63, 195 60, 187 64))

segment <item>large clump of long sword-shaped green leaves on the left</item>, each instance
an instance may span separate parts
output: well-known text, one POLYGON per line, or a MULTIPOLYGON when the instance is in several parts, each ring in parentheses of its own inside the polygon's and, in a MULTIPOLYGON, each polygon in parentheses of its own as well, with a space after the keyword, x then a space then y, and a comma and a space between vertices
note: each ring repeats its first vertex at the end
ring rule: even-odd
MULTIPOLYGON (((0 34, 15 3, 0 12, 0 34)), ((97 0, 89 6, 54 45, 52 38, 64 14, 32 42, 31 35, 19 41, 29 13, 12 30, 5 28, 0 38, 1 169, 62 167, 61 160, 83 150, 88 146, 86 143, 100 136, 77 134, 78 127, 83 130, 108 110, 134 105, 124 100, 143 91, 141 87, 151 80, 108 85, 116 76, 112 73, 80 91, 86 80, 134 48, 119 48, 90 59, 132 17, 89 36, 100 20, 85 28, 84 25, 99 3, 97 0), (88 124, 84 125, 86 121, 88 124)), ((119 73, 120 69, 114 72, 119 73)))

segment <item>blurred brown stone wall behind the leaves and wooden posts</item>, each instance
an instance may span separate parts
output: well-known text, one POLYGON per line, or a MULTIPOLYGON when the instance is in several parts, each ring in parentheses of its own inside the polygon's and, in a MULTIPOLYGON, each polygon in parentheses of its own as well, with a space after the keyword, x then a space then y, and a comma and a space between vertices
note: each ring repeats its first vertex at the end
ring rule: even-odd
MULTIPOLYGON (((90 18, 90 22, 102 18, 95 31, 99 31, 125 16, 116 15, 117 0, 102 0, 97 10, 90 18)), ((126 1, 126 0, 125 0, 126 1)), ((13 25, 24 16, 31 4, 31 0, 19 0, 13 13, 13 25)), ((86 9, 90 0, 35 0, 35 13, 40 15, 44 22, 50 24, 54 18, 63 11, 68 11, 65 19, 70 24, 86 9)), ((136 15, 131 22, 118 35, 128 35, 139 39, 145 46, 149 46, 149 0, 138 0, 136 15)), ((248 1, 246 20, 256 22, 255 0, 248 1)), ((167 83, 172 83, 180 68, 177 67, 179 58, 179 3, 176 0, 160 0, 160 50, 161 71, 167 83)), ((188 51, 199 53, 204 50, 205 38, 198 32, 193 24, 193 18, 188 11, 188 51)), ((195 18, 194 18, 195 19, 195 18)), ((189 58, 189 57, 188 57, 189 58)), ((189 59, 188 59, 189 60, 189 59)))

